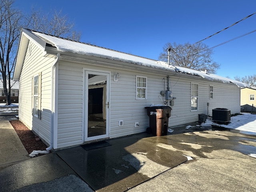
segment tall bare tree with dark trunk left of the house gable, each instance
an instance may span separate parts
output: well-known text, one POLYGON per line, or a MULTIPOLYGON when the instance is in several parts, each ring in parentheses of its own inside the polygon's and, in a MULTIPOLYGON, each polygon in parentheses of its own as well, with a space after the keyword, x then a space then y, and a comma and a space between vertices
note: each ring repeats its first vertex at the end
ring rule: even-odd
POLYGON ((0 73, 6 105, 11 104, 11 76, 22 24, 22 14, 12 4, 12 0, 0 0, 0 73))

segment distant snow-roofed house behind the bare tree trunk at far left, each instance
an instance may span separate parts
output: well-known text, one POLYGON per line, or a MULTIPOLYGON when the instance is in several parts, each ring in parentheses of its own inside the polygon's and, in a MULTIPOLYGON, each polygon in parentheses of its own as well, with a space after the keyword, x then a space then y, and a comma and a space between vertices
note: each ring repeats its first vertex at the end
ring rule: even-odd
MULTIPOLYGON (((19 96, 19 82, 10 80, 11 82, 11 102, 18 103, 19 96)), ((9 86, 7 81, 7 86, 9 86)), ((4 94, 3 82, 0 80, 0 103, 6 103, 6 97, 4 94)))

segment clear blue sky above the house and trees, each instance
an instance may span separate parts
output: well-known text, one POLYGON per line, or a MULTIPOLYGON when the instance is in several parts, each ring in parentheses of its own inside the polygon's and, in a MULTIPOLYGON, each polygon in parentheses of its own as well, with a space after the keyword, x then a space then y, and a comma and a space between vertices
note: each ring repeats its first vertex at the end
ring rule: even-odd
MULTIPOLYGON (((21 10, 62 10, 87 42, 158 60, 164 44, 194 44, 256 12, 255 0, 16 0, 21 10)), ((210 48, 256 30, 256 14, 204 40, 210 48)), ((217 75, 256 75, 256 32, 214 48, 217 75)))

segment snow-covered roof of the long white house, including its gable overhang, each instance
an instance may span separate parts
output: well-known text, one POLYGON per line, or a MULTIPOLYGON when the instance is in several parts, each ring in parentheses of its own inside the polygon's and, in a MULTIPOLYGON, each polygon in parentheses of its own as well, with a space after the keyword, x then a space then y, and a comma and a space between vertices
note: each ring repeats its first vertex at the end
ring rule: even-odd
POLYGON ((15 66, 15 71, 14 71, 14 79, 15 80, 17 80, 20 77, 22 64, 24 62, 24 58, 25 58, 25 54, 26 54, 26 52, 25 52, 26 50, 24 49, 24 47, 28 46, 28 40, 23 40, 24 37, 26 37, 27 39, 33 40, 34 42, 37 42, 38 46, 40 46, 44 51, 46 50, 46 47, 50 45, 50 46, 56 48, 56 52, 60 52, 61 54, 71 52, 71 53, 87 55, 87 56, 108 58, 108 59, 112 59, 112 60, 138 64, 138 65, 142 65, 142 66, 148 66, 151 68, 160 68, 160 69, 169 70, 172 72, 200 76, 201 78, 206 79, 206 80, 223 82, 225 84, 233 83, 241 88, 242 87, 250 87, 245 83, 242 83, 242 82, 239 82, 236 80, 232 80, 229 78, 224 78, 224 77, 221 77, 221 76, 218 76, 215 74, 208 74, 206 72, 200 72, 200 71, 189 69, 189 68, 168 65, 168 63, 166 63, 166 62, 156 61, 156 60, 152 60, 152 59, 148 59, 148 58, 144 58, 144 57, 140 57, 140 56, 135 56, 132 54, 127 54, 124 52, 119 52, 116 50, 111 50, 111 49, 107 49, 107 48, 103 48, 103 47, 99 47, 99 46, 94 46, 91 44, 68 40, 65 38, 59 38, 56 36, 52 36, 52 35, 48 35, 48 34, 44 34, 44 33, 40 33, 40 32, 35 32, 32 30, 26 30, 26 29, 22 29, 22 34, 21 34, 21 39, 20 39, 20 44, 19 44, 19 51, 18 51, 18 56, 17 56, 17 62, 16 62, 16 66, 15 66), (22 43, 24 45, 22 45, 22 43))

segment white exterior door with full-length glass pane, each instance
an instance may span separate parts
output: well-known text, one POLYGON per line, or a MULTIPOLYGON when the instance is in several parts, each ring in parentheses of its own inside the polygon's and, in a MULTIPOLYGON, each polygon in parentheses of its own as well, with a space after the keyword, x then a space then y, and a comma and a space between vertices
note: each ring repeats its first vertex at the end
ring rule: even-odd
POLYGON ((110 72, 84 70, 84 141, 109 137, 110 72))

